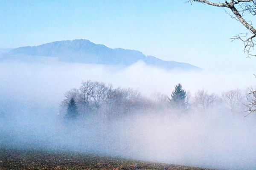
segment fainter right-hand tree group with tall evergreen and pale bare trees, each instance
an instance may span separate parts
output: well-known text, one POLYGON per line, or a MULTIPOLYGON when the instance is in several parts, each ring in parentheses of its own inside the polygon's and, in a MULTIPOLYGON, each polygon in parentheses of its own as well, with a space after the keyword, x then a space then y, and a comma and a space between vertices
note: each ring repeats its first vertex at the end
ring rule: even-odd
MULTIPOLYGON (((182 89, 182 85, 179 83, 175 85, 174 91, 172 91, 169 105, 173 108, 184 110, 196 109, 197 111, 206 113, 213 108, 221 107, 226 108, 230 112, 242 113, 255 111, 255 98, 256 93, 254 91, 249 95, 245 91, 239 89, 224 91, 221 96, 217 94, 208 94, 204 89, 196 91, 195 95, 191 98, 190 95, 182 89), (246 109, 249 108, 249 109, 246 109)), ((163 101, 163 100, 162 100, 163 101)))

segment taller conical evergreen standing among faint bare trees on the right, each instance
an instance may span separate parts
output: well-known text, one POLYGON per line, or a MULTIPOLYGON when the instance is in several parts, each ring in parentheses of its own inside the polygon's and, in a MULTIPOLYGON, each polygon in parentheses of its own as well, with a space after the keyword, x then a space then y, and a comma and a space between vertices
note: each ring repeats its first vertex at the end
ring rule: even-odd
POLYGON ((178 108, 186 108, 186 91, 182 89, 182 85, 179 83, 175 85, 174 91, 172 91, 170 102, 176 105, 178 108))

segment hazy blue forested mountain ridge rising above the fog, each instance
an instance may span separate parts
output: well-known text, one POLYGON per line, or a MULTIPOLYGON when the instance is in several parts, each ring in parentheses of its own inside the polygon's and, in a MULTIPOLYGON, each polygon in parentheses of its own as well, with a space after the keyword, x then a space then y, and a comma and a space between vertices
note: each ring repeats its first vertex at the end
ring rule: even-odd
MULTIPOLYGON (((2 48, 3 49, 3 48, 2 48)), ((61 62, 93 63, 103 65, 132 65, 142 60, 148 65, 164 69, 192 70, 201 69, 194 65, 175 61, 163 61, 153 56, 145 56, 140 51, 122 48, 108 48, 94 44, 89 40, 66 40, 50 42, 38 46, 26 46, 10 49, 0 55, 0 60, 19 59, 35 60, 38 57, 57 58, 61 62)))

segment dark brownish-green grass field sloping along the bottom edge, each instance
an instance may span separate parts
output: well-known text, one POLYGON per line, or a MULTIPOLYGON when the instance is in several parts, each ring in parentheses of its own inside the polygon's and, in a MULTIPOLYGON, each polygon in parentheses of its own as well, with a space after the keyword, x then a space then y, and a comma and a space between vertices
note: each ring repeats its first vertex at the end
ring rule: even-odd
POLYGON ((210 170, 70 151, 0 149, 0 170, 210 170))

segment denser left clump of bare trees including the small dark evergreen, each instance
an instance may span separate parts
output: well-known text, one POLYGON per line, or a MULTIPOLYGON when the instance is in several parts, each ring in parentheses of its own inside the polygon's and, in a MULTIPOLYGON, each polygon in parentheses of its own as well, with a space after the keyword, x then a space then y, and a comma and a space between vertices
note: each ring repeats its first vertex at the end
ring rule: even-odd
POLYGON ((61 102, 62 112, 68 118, 97 114, 107 118, 117 118, 145 107, 146 99, 131 88, 113 88, 104 82, 88 80, 79 89, 67 91, 61 102))

